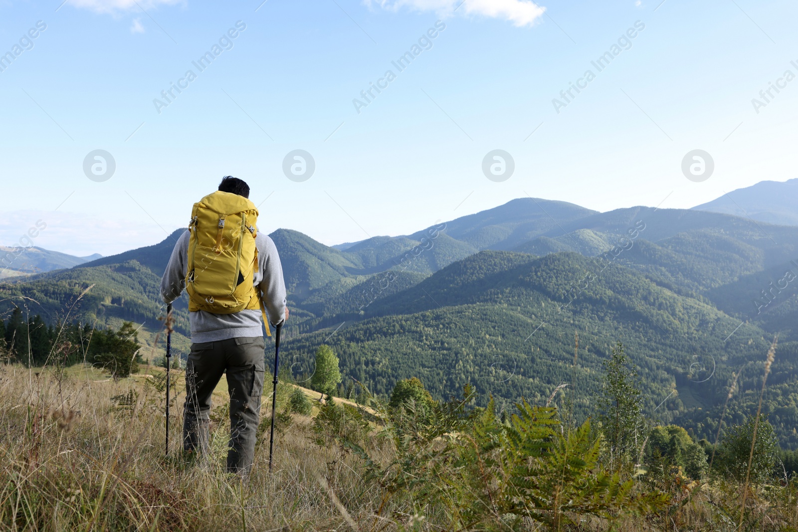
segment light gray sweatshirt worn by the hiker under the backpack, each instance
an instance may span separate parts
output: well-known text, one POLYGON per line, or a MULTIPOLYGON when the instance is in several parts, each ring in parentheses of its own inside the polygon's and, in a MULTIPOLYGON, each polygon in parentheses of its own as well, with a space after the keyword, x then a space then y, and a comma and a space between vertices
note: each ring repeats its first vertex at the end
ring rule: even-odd
MULTIPOLYGON (((186 287, 188 237, 188 230, 180 235, 166 266, 164 278, 160 281, 160 294, 166 303, 180 298, 186 287)), ((253 286, 260 286, 266 294, 264 302, 269 312, 269 321, 276 325, 286 316, 286 284, 282 279, 282 264, 275 242, 267 234, 258 233, 255 246, 258 248, 258 269, 255 270, 253 286)), ((242 310, 234 314, 213 314, 199 310, 191 313, 190 321, 192 342, 195 344, 239 337, 259 337, 263 334, 260 310, 242 310)))

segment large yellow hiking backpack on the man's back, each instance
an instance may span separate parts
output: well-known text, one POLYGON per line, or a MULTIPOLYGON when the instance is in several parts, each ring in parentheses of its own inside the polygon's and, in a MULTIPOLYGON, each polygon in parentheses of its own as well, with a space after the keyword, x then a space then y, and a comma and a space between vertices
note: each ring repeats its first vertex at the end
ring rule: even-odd
POLYGON ((258 209, 241 195, 215 191, 194 204, 188 224, 188 309, 215 314, 260 309, 271 336, 263 296, 252 286, 257 223, 258 209))

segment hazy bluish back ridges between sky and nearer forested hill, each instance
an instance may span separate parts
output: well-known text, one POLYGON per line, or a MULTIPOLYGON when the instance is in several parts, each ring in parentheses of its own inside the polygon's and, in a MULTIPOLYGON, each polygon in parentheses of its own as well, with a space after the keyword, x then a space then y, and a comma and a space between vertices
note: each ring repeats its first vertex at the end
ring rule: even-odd
MULTIPOLYGON (((373 237, 338 246, 343 249, 325 246, 288 229, 279 229, 270 236, 279 250, 290 304, 301 305, 310 298, 315 301, 311 313, 318 316, 323 307, 319 307, 322 294, 337 298, 389 270, 420 274, 421 277, 405 280, 418 281, 480 250, 513 250, 537 256, 571 251, 595 257, 624 242, 635 224, 642 224, 637 245, 618 261, 680 294, 697 295, 735 282, 738 276, 798 258, 795 227, 766 226, 765 231, 762 224, 747 218, 694 209, 629 207, 601 213, 572 203, 533 198, 514 199, 441 223, 437 226, 440 231, 430 232, 432 228, 428 228, 404 236, 373 237), (435 237, 430 238, 430 234, 435 237), (714 275, 705 274, 709 271, 714 275)), ((77 267, 135 261, 160 277, 184 231, 174 231, 153 246, 82 262, 77 267)), ((385 280, 377 279, 377 283, 385 280)), ((363 291, 367 291, 365 287, 363 291)), ((385 289, 377 293, 381 297, 385 289)), ((364 301, 373 297, 376 296, 369 295, 364 301)), ((354 295, 350 293, 346 298, 354 300, 354 295)))

